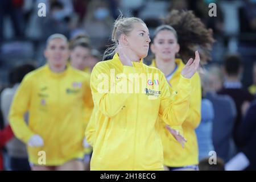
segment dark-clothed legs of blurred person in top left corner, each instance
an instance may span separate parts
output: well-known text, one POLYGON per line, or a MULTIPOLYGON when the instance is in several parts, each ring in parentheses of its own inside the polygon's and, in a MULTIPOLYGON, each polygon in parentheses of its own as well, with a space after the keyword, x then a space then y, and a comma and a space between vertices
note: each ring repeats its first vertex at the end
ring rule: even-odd
POLYGON ((3 40, 4 19, 10 15, 16 38, 24 35, 24 15, 22 12, 23 0, 0 1, 0 42, 3 40))

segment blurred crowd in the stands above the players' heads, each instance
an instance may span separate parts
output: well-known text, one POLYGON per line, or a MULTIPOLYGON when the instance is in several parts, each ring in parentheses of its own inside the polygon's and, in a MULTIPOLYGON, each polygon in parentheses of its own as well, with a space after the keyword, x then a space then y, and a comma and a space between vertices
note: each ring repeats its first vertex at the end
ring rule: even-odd
POLYGON ((55 32, 72 38, 79 33, 90 36, 93 48, 104 52, 109 43, 113 22, 119 10, 125 16, 142 18, 150 31, 160 18, 172 9, 193 10, 214 31, 213 63, 221 64, 226 53, 242 56, 242 82, 253 82, 255 60, 255 1, 164 1, 164 0, 3 0, 0 2, 0 66, 1 85, 6 86, 7 73, 18 62, 30 61, 37 66, 45 63, 45 40, 55 32), (46 17, 39 17, 39 3, 46 4, 46 17), (217 5, 217 16, 210 17, 210 2, 217 5))

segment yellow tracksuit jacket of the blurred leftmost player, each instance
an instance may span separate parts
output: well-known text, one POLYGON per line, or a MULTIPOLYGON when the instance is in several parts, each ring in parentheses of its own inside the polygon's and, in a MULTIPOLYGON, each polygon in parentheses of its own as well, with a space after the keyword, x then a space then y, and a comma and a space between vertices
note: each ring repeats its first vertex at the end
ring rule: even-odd
POLYGON ((53 73, 48 64, 23 78, 9 119, 14 134, 23 142, 34 134, 43 138, 44 146, 28 146, 31 163, 39 164, 39 151, 46 152, 46 166, 83 157, 82 140, 93 109, 89 81, 89 75, 72 67, 53 73), (28 125, 23 119, 27 110, 28 125))

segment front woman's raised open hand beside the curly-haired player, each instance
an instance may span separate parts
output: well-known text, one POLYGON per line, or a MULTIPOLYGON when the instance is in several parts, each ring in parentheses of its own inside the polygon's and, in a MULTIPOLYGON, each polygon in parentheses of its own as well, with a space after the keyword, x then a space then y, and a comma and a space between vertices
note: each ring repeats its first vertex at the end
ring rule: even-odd
POLYGON ((200 63, 200 56, 199 52, 195 52, 195 60, 192 58, 188 60, 188 63, 185 65, 185 67, 181 71, 181 75, 185 78, 191 78, 199 68, 200 63))

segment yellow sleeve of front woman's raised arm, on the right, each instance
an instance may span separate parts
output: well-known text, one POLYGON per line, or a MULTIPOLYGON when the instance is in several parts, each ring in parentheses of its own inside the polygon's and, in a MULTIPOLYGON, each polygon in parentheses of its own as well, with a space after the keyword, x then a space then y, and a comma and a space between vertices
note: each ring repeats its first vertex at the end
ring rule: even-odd
POLYGON ((182 135, 183 130, 181 125, 185 121, 185 118, 187 118, 189 110, 191 79, 180 75, 177 91, 170 92, 168 82, 163 73, 161 77, 164 84, 162 87, 159 115, 167 125, 170 125, 174 130, 178 130, 182 135))

